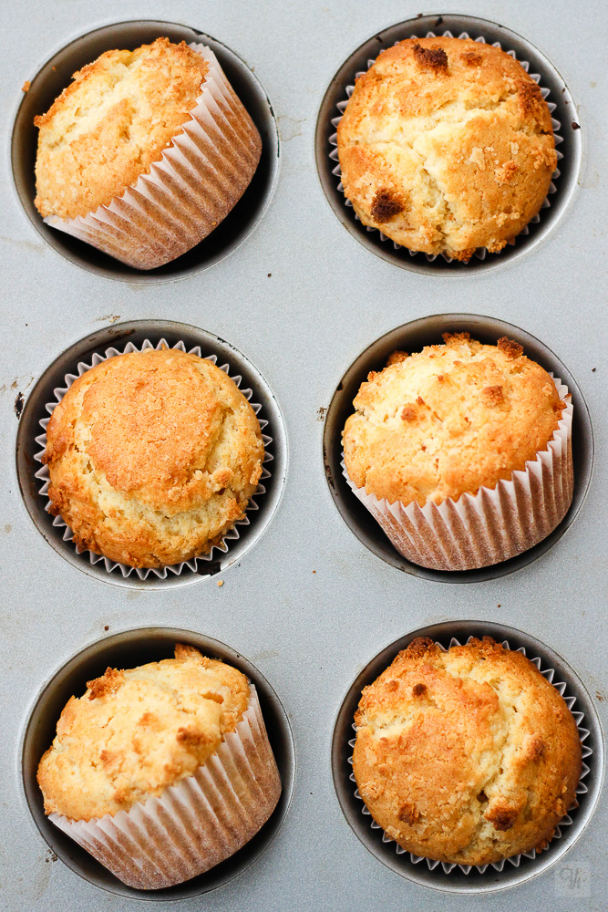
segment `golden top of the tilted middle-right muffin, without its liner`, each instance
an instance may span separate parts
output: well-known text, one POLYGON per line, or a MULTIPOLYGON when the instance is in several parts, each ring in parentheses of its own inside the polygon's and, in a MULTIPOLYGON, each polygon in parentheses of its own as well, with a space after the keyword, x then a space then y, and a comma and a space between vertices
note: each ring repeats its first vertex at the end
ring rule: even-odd
POLYGON ((517 342, 468 333, 372 371, 343 434, 346 471, 388 503, 420 505, 493 488, 546 449, 564 403, 517 342))

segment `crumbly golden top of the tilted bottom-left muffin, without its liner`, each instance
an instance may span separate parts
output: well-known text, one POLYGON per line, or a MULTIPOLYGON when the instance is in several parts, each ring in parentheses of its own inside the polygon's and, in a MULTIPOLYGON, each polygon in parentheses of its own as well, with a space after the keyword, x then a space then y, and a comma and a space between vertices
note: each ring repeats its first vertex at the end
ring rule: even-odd
POLYGON ((46 814, 88 821, 159 795, 217 751, 249 694, 241 671, 191 646, 139 668, 108 668, 67 701, 40 761, 46 814))

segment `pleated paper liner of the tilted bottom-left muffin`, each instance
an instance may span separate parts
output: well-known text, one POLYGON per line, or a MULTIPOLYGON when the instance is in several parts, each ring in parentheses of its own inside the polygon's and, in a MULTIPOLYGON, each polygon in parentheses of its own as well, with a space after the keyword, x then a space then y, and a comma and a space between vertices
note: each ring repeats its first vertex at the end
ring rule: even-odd
POLYGON ((194 772, 129 811, 59 829, 123 883, 140 890, 183 883, 249 842, 273 813, 281 778, 255 688, 235 731, 194 772))

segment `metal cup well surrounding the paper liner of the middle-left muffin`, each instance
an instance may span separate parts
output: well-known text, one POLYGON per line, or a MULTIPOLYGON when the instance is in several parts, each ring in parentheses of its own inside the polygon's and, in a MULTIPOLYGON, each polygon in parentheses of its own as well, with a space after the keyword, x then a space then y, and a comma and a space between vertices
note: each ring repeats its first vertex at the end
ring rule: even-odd
POLYGON ((45 537, 58 554, 65 557, 70 564, 77 566, 93 576, 114 583, 117 586, 146 586, 158 589, 166 586, 185 586, 195 583, 205 577, 214 576, 225 570, 226 567, 239 560, 252 544, 263 534, 267 524, 271 521, 277 504, 281 500, 285 480, 287 461, 287 438, 281 411, 269 389, 268 384, 245 358, 240 351, 229 342, 225 342, 211 333, 205 332, 196 326, 184 326, 169 320, 137 320, 129 323, 115 324, 106 329, 99 330, 92 335, 81 339, 76 345, 67 348, 53 363, 46 368, 42 377, 27 397, 26 405, 19 421, 19 430, 16 440, 16 467, 19 485, 26 508, 32 517, 36 528, 45 537), (218 358, 218 367, 228 362, 230 373, 233 376, 241 375, 241 389, 252 389, 252 402, 261 403, 262 409, 258 413, 260 420, 268 422, 264 429, 272 435, 272 442, 267 446, 267 454, 272 456, 268 463, 270 477, 263 479, 265 493, 255 495, 253 500, 257 509, 248 510, 246 518, 248 524, 237 523, 235 530, 239 537, 236 540, 226 538, 228 550, 222 553, 213 549, 210 560, 196 562, 196 570, 185 565, 180 573, 169 571, 164 578, 149 574, 141 578, 136 572, 125 576, 116 565, 111 571, 106 568, 103 560, 93 564, 88 551, 77 552, 71 537, 64 539, 66 531, 64 525, 53 523, 53 517, 46 512, 48 499, 40 494, 41 483, 36 479, 36 472, 40 468, 35 456, 40 450, 36 444, 36 437, 41 433, 40 420, 47 417, 46 403, 55 400, 53 390, 64 386, 64 378, 68 373, 77 373, 77 364, 80 361, 90 363, 91 356, 98 352, 103 355, 108 347, 122 350, 128 342, 139 347, 145 339, 156 346, 164 338, 172 347, 177 342, 183 341, 186 348, 200 346, 202 357, 215 355, 218 358), (34 472, 34 475, 32 474, 34 472))

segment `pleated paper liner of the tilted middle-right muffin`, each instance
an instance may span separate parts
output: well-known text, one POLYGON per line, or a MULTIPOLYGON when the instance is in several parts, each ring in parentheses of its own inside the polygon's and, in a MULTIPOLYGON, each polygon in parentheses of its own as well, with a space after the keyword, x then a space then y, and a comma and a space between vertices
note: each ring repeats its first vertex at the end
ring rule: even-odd
POLYGON ((435 570, 474 570, 507 561, 551 534, 572 503, 572 399, 559 378, 549 375, 566 403, 547 449, 494 488, 463 493, 457 501, 423 506, 388 503, 356 487, 352 492, 382 526, 399 554, 435 570))

